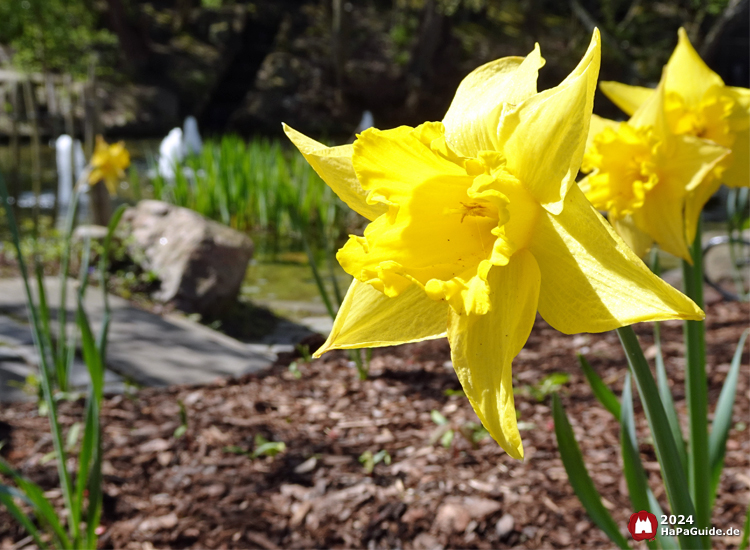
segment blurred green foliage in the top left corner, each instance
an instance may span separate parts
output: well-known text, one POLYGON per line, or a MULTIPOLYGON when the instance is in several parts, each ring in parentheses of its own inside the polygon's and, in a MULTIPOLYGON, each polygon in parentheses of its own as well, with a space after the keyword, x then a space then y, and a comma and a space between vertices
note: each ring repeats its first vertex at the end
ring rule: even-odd
POLYGON ((25 71, 86 74, 95 52, 114 52, 117 37, 100 27, 89 0, 3 0, 0 43, 25 71))

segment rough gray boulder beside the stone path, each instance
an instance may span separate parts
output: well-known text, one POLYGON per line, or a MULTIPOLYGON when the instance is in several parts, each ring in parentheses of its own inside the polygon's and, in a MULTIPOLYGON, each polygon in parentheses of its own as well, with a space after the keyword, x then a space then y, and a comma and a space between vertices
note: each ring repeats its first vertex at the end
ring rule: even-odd
POLYGON ((154 298, 207 316, 234 303, 253 255, 247 235, 161 201, 128 209, 118 234, 133 260, 161 280, 154 298))

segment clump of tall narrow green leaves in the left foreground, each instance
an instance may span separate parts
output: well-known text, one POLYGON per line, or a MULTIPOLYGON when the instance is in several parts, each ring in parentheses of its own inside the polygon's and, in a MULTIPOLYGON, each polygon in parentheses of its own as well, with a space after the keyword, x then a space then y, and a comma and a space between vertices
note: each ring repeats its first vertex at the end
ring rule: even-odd
MULTIPOLYGON (((87 172, 86 172, 87 173, 87 172)), ((31 323, 31 331, 39 356, 39 374, 42 396, 49 418, 50 431, 54 447, 55 461, 63 494, 67 521, 62 520, 52 503, 44 495, 44 490, 33 481, 14 470, 6 461, 0 459, 0 475, 10 479, 13 485, 0 483, 0 503, 27 530, 40 548, 96 548, 97 527, 102 510, 102 445, 100 409, 104 391, 104 365, 106 361, 106 342, 109 328, 109 304, 106 291, 107 258, 112 234, 117 226, 124 207, 112 216, 104 241, 102 256, 99 262, 102 292, 104 293, 104 318, 98 338, 94 337, 88 317, 83 308, 85 292, 88 286, 91 242, 84 243, 81 260, 80 281, 76 293, 75 329, 68 331, 67 323, 67 286, 71 234, 75 209, 78 199, 78 187, 85 181, 86 173, 76 185, 73 201, 68 212, 64 233, 63 257, 60 272, 60 306, 57 312, 57 343, 52 331, 51 309, 46 299, 42 269, 34 256, 34 278, 36 282, 36 300, 32 289, 32 277, 26 266, 18 226, 14 212, 8 201, 8 191, 0 176, 0 200, 5 206, 8 226, 18 258, 18 265, 24 283, 26 302, 31 323), (70 334, 68 334, 70 333, 70 334), (65 441, 70 437, 63 436, 59 422, 58 401, 67 390, 75 351, 80 338, 84 363, 89 372, 90 384, 86 397, 83 415, 83 438, 77 457, 75 475, 68 470, 68 451, 65 441), (27 513, 18 503, 30 507, 32 514, 27 513)), ((71 428, 71 431, 73 428, 71 428)))

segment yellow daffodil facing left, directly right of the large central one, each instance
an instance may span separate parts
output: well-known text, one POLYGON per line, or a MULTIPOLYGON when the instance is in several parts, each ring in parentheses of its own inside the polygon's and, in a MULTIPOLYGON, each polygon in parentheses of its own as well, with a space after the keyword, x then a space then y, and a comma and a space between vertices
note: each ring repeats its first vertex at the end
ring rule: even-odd
POLYGON ((639 256, 653 242, 692 263, 701 210, 721 185, 729 149, 669 128, 667 71, 628 122, 594 115, 581 169, 581 189, 639 256), (717 177, 718 176, 718 177, 717 177))

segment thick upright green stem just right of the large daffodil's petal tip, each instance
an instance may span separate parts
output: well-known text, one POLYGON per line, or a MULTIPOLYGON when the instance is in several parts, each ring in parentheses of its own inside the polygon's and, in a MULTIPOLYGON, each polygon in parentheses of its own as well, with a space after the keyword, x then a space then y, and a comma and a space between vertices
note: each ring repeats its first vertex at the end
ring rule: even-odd
MULTIPOLYGON (((703 308, 701 222, 690 253, 693 265, 682 262, 685 294, 703 308)), ((688 408, 688 482, 698 527, 710 527, 711 466, 708 458, 708 381, 704 321, 685 321, 685 394, 688 408)))

